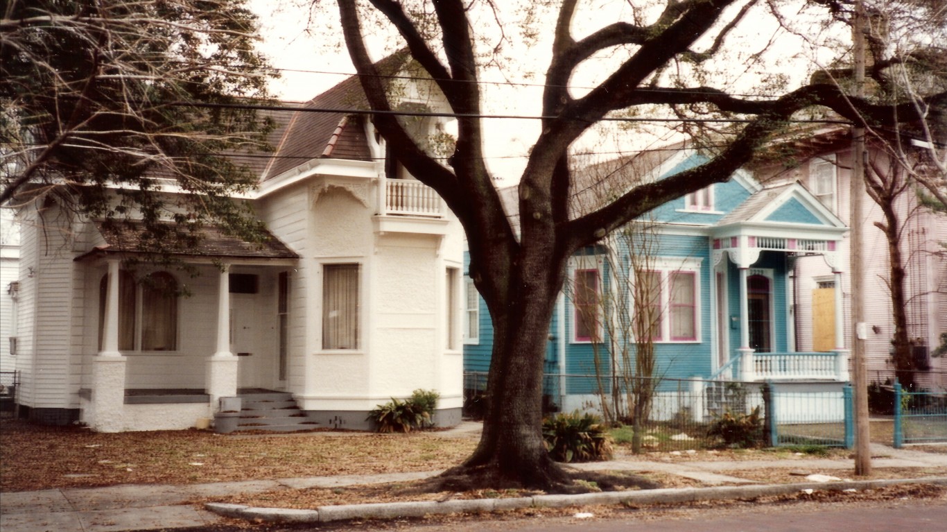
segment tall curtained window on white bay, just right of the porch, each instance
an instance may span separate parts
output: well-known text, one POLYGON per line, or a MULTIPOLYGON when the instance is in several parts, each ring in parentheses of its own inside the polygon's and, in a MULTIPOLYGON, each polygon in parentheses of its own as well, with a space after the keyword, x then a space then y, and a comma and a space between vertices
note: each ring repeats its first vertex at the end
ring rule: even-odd
POLYGON ((359 348, 359 269, 357 264, 323 266, 323 349, 359 348))

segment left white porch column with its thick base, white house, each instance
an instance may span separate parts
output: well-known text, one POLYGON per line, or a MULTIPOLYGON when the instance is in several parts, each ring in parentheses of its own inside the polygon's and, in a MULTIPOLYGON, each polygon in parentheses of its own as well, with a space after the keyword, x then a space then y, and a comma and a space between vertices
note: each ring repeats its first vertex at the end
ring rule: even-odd
POLYGON ((118 283, 121 262, 108 261, 105 289, 105 322, 102 323, 102 350, 92 365, 92 412, 86 421, 93 430, 118 432, 124 429, 126 358, 118 351, 118 283))

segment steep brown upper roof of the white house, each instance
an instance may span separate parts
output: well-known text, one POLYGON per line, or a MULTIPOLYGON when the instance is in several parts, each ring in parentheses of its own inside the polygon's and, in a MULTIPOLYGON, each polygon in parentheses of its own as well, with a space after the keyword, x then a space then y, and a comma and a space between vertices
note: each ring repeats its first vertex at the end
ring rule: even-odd
MULTIPOLYGON (((396 52, 376 64, 381 75, 392 75, 409 56, 396 52)), ((307 109, 369 109, 359 77, 351 76, 303 105, 307 109)), ((344 112, 277 111, 277 129, 270 135, 275 148, 260 181, 266 181, 320 157, 371 160, 365 134, 365 115, 344 112)))

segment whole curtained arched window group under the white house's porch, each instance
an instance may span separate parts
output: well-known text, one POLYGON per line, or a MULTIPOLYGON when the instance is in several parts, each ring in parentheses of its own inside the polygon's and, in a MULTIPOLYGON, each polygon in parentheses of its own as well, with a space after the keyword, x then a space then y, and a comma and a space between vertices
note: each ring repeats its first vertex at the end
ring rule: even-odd
MULTIPOLYGON (((98 349, 105 329, 109 276, 98 284, 98 349)), ((140 284, 127 270, 118 273, 118 350, 175 351, 177 349, 178 284, 166 271, 146 276, 140 284), (140 302, 140 306, 139 303, 140 302)))

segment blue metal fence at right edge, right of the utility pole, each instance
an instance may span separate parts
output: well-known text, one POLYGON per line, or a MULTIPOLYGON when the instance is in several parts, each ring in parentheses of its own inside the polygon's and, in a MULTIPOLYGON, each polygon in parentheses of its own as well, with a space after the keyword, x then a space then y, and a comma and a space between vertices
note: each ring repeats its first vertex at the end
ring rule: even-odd
POLYGON ((947 393, 905 392, 894 385, 894 447, 947 442, 947 393))

